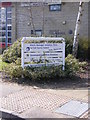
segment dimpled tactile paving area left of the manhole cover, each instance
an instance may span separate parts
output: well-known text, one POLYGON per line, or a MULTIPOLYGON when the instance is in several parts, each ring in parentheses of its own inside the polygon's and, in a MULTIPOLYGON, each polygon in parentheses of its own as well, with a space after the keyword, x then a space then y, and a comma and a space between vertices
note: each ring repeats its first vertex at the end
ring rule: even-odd
POLYGON ((53 95, 38 90, 25 89, 1 99, 1 107, 10 111, 22 113, 32 107, 38 106, 53 111, 66 103, 70 98, 53 95))

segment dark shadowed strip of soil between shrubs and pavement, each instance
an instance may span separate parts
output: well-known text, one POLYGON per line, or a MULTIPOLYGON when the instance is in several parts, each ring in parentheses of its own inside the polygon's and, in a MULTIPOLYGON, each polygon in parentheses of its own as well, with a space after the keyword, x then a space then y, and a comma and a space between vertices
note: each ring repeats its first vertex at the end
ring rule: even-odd
MULTIPOLYGON (((87 74, 88 75, 88 74, 87 74)), ((86 74, 72 76, 71 78, 59 78, 54 80, 31 81, 30 79, 10 80, 3 78, 3 81, 15 82, 22 85, 36 86, 43 89, 88 89, 90 87, 86 74), (84 77, 83 77, 84 76, 84 77)))

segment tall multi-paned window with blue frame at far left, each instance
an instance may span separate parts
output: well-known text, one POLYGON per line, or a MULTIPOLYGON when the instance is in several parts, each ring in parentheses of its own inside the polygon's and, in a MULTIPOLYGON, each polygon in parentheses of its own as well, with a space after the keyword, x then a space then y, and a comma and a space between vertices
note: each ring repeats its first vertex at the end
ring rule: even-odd
POLYGON ((8 41, 9 43, 11 43, 12 7, 1 7, 0 20, 0 38, 2 39, 2 42, 8 41))

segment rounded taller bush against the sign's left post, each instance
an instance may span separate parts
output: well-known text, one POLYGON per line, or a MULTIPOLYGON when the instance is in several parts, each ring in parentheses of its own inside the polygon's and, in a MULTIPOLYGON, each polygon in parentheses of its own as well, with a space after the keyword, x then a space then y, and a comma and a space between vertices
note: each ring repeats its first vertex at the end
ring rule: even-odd
POLYGON ((12 63, 21 58, 21 39, 14 42, 3 52, 2 61, 12 63))

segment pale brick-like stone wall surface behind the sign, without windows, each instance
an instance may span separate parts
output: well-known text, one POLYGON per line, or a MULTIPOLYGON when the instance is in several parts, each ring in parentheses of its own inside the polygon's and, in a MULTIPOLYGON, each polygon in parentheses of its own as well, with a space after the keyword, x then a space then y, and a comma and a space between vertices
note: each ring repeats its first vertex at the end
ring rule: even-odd
MULTIPOLYGON (((55 32, 58 36, 73 36, 78 8, 79 3, 75 2, 62 4, 61 11, 49 11, 49 6, 32 7, 35 30, 42 30, 44 36, 55 35, 55 32)), ((20 2, 13 3, 13 40, 31 36, 33 27, 30 17, 31 13, 28 7, 22 7, 20 2)), ((88 36, 88 3, 84 3, 80 36, 88 36)))

